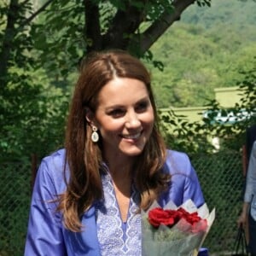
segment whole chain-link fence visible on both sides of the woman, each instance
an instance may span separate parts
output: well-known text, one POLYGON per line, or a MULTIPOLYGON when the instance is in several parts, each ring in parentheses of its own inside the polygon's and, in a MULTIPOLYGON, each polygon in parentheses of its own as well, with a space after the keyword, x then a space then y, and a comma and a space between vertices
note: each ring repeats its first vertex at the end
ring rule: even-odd
MULTIPOLYGON (((191 157, 210 210, 216 219, 204 242, 213 255, 228 255, 236 237, 243 184, 241 155, 234 153, 191 157)), ((31 166, 0 165, 0 256, 23 255, 31 199, 31 166)))

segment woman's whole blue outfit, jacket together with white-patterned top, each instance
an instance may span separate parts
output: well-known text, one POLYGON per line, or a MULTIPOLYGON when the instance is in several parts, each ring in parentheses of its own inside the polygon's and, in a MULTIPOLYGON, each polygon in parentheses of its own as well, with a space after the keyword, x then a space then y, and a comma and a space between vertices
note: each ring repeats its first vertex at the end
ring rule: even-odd
MULTIPOLYGON (((126 224, 122 223, 110 175, 102 175, 104 199, 96 202, 81 217, 83 230, 72 232, 63 225, 57 202, 66 189, 64 179, 65 149, 45 157, 32 192, 26 235, 25 256, 141 256, 141 217, 137 211, 137 191, 131 188, 131 202, 126 224), (51 201, 51 202, 50 202, 51 201), (108 213, 108 214, 106 214, 108 213)), ((163 172, 172 176, 169 188, 160 195, 161 207, 168 201, 177 206, 191 199, 201 207, 201 186, 187 154, 167 150, 163 172)), ((68 178, 67 169, 67 178, 68 178)))

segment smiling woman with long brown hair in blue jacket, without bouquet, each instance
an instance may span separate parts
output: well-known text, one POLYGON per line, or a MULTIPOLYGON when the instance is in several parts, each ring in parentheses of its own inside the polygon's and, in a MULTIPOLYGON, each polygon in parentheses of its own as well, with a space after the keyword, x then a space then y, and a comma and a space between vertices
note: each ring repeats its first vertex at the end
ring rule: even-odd
POLYGON ((90 55, 65 149, 38 170, 25 255, 141 255, 140 210, 188 199, 204 203, 188 156, 160 137, 147 69, 123 51, 90 55))

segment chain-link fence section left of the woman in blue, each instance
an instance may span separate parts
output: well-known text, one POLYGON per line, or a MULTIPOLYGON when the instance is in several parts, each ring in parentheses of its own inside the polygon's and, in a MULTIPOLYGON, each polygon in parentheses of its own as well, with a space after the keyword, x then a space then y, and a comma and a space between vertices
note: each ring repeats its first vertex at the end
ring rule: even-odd
POLYGON ((23 255, 31 177, 29 164, 0 165, 0 256, 23 255))

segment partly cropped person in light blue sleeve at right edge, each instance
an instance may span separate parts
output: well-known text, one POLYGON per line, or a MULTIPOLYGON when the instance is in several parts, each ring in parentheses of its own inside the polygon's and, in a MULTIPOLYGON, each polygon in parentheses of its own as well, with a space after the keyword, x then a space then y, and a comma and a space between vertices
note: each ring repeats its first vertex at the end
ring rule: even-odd
POLYGON ((247 168, 246 190, 244 193, 241 215, 237 222, 246 226, 248 219, 249 242, 248 251, 250 255, 256 256, 256 141, 253 143, 252 151, 247 168), (249 212, 249 214, 248 214, 249 212))

